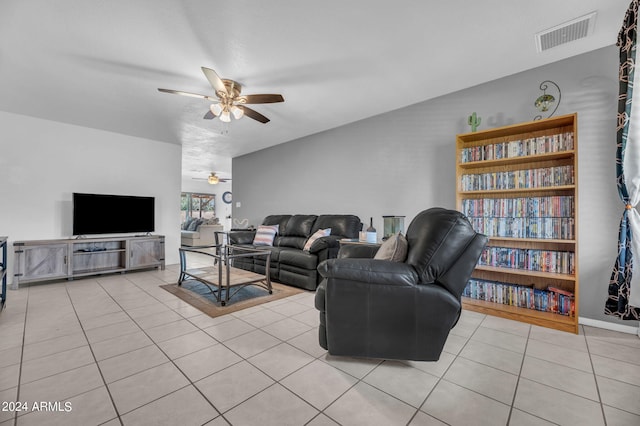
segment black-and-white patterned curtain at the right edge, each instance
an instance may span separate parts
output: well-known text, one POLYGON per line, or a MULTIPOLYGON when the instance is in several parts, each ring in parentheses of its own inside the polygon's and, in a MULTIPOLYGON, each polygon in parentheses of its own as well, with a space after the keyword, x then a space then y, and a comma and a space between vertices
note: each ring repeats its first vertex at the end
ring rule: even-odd
POLYGON ((639 1, 631 2, 618 34, 620 93, 616 174, 618 194, 625 209, 620 220, 618 257, 611 273, 604 310, 605 314, 624 320, 640 319, 640 277, 635 277, 632 282, 633 266, 640 265, 640 214, 635 208, 640 202, 640 120, 632 115, 635 112, 632 106, 640 106, 640 90, 633 90, 636 79, 640 78, 640 73, 635 72, 639 1))

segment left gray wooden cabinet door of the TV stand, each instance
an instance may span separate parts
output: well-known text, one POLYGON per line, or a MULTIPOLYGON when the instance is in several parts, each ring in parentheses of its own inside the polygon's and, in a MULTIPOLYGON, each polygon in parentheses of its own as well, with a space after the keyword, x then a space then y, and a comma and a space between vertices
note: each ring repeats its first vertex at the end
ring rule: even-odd
POLYGON ((68 255, 67 244, 16 248, 15 281, 66 278, 69 275, 68 255))

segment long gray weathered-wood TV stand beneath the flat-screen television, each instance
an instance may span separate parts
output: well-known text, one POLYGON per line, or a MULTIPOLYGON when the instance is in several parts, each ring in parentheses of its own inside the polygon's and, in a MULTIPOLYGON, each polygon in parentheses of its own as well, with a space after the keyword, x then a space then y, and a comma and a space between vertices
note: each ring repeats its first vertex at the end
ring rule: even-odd
POLYGON ((15 241, 12 289, 20 284, 136 269, 164 270, 164 236, 15 241))

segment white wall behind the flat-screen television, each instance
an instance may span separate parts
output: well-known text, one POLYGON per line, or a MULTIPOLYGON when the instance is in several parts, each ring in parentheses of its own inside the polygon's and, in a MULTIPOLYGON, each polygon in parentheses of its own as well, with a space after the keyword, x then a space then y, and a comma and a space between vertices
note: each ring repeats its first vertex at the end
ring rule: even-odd
MULTIPOLYGON (((178 262, 181 147, 0 112, 0 235, 71 237, 73 192, 153 196, 165 260, 178 262)), ((9 295, 10 297, 10 295, 9 295)))

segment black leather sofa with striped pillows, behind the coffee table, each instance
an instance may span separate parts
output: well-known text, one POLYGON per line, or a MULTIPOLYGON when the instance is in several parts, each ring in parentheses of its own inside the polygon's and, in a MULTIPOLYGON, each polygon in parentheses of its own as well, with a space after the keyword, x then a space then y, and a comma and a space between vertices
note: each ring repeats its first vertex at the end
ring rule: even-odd
MULTIPOLYGON (((278 225, 273 246, 259 246, 271 251, 271 279, 283 284, 315 290, 320 282, 318 265, 335 258, 341 238, 357 238, 362 229, 360 218, 354 215, 271 215, 262 225, 278 225), (319 229, 331 228, 331 235, 314 241, 309 251, 303 251, 307 239, 319 229)), ((231 231, 229 244, 253 247, 255 231, 231 231)), ((260 258, 236 259, 234 266, 264 273, 266 264, 260 258)))

